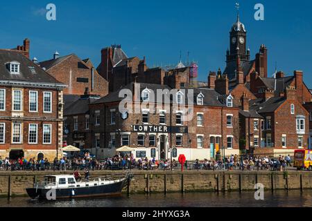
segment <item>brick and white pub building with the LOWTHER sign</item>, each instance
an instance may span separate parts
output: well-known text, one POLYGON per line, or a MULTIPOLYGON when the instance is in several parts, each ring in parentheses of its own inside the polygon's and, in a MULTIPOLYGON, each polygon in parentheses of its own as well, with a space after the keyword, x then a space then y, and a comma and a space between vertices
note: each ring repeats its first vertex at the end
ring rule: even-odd
MULTIPOLYGON (((175 159, 182 153, 188 160, 210 159, 216 157, 222 146, 225 146, 225 155, 239 154, 239 108, 233 106, 232 99, 224 99, 216 90, 193 89, 193 117, 183 121, 182 110, 165 108, 169 103, 155 104, 150 100, 151 106, 144 107, 147 99, 152 99, 153 91, 170 91, 170 87, 132 83, 123 89, 138 96, 139 102, 133 105, 139 104, 139 113, 120 113, 119 104, 123 98, 119 98, 119 91, 89 104, 92 142, 85 146, 98 157, 112 156, 121 146, 132 147, 135 157, 157 159, 170 158, 171 150, 175 159), (139 89, 135 90, 135 86, 139 89), (153 109, 155 105, 160 108, 153 109), (171 126, 175 130, 173 133, 168 131, 171 126)), ((184 97, 190 90, 177 89, 176 94, 184 97)), ((81 117, 78 125, 85 125, 86 119, 81 117)))

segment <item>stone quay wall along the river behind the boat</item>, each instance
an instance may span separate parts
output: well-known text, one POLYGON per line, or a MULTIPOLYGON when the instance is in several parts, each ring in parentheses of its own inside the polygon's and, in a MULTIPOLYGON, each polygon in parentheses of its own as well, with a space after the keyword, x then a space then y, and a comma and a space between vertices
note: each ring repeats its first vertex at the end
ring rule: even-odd
MULTIPOLYGON (((91 177, 121 174, 120 171, 91 171, 91 177)), ((134 179, 125 193, 187 193, 205 191, 254 191, 255 184, 266 190, 312 189, 312 173, 305 171, 132 171, 134 179)), ((25 196, 26 188, 60 172, 1 171, 0 196, 25 196)), ((64 172, 62 172, 64 174, 64 172)), ((67 172, 71 174, 71 172, 67 172)), ((82 173, 83 175, 83 173, 82 173)))

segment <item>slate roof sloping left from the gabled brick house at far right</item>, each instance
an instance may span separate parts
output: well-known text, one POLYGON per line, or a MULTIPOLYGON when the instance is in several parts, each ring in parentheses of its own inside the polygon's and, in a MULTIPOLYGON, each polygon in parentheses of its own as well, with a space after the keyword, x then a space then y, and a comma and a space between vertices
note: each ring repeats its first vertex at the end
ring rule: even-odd
POLYGON ((263 99, 250 100, 250 110, 257 111, 257 113, 270 113, 275 111, 286 99, 285 97, 270 97, 265 102, 263 99))

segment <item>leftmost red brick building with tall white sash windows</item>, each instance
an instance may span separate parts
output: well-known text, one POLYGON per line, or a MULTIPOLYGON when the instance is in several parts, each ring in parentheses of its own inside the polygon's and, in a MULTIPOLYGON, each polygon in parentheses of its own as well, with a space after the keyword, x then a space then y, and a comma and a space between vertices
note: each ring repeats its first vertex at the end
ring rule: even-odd
POLYGON ((62 155, 65 85, 24 56, 25 42, 0 50, 0 155, 53 160, 62 155))

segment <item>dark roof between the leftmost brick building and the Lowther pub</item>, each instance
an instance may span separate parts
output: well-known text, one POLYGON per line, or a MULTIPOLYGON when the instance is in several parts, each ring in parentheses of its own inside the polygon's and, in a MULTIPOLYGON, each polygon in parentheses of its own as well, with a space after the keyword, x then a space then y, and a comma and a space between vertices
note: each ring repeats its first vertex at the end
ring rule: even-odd
POLYGON ((96 100, 97 99, 94 97, 81 97, 64 109, 64 115, 80 115, 89 113, 89 104, 95 102, 96 100))

